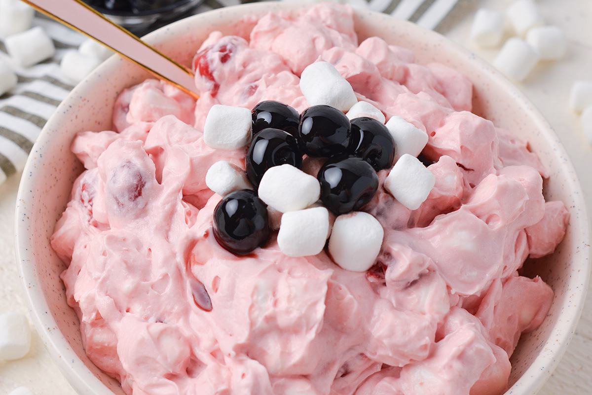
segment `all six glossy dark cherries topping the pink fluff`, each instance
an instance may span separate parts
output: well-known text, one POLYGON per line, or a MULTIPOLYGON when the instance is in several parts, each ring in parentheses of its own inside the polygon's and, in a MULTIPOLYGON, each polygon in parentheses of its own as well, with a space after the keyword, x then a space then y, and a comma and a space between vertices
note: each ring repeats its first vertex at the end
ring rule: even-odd
MULTIPOLYGON (((245 159, 255 187, 270 167, 301 168, 303 156, 328 158, 318 171, 320 199, 336 215, 358 211, 378 189, 377 171, 388 169, 395 143, 374 118, 351 121, 328 105, 311 106, 302 114, 284 103, 261 102, 252 110, 253 140, 245 159)), ((214 237, 226 250, 247 254, 269 238, 268 212, 253 190, 226 195, 214 211, 214 237)))

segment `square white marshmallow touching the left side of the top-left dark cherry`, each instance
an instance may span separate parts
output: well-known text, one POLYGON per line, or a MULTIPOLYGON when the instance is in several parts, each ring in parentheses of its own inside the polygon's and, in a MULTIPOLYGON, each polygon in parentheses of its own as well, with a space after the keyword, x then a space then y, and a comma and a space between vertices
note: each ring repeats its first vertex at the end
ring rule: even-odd
POLYGON ((244 107, 215 104, 204 124, 204 142, 218 150, 237 150, 252 137, 251 111, 244 107))

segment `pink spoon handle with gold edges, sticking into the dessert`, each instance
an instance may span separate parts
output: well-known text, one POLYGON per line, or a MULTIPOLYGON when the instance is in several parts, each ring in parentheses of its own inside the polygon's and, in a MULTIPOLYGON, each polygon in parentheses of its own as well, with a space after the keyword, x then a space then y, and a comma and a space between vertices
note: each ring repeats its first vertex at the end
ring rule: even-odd
POLYGON ((108 20, 82 0, 23 1, 48 17, 111 48, 156 77, 188 93, 194 99, 199 97, 191 70, 144 43, 130 31, 108 20))

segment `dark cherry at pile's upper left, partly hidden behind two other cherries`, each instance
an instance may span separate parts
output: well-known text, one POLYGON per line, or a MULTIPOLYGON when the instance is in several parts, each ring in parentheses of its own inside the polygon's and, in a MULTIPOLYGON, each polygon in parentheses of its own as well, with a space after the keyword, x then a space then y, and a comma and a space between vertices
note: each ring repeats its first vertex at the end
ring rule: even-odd
POLYGON ((300 114, 292 107, 272 100, 260 102, 251 111, 253 116, 253 134, 265 128, 281 129, 292 136, 298 132, 300 114))

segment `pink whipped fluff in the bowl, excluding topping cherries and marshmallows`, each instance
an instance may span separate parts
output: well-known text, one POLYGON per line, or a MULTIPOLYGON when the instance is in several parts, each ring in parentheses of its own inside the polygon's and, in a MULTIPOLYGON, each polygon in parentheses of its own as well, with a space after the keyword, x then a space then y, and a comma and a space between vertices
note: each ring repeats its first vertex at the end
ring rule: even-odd
POLYGON ((470 112, 458 72, 378 37, 358 43, 350 8, 246 18, 241 29, 250 33, 212 33, 195 56, 197 103, 147 80, 117 99, 113 131, 72 144, 86 170, 52 247, 69 264, 62 279, 89 358, 134 395, 502 393, 520 334, 553 297, 518 270, 554 251, 569 219, 543 199, 538 158, 470 112), (364 208, 384 227, 366 273, 325 252, 286 257, 273 237, 239 257, 212 235, 221 196, 205 173, 219 160, 244 169, 246 148, 205 145, 208 110, 276 100, 303 111, 299 76, 317 60, 387 119, 429 135, 436 184, 420 208, 382 186, 364 208))

